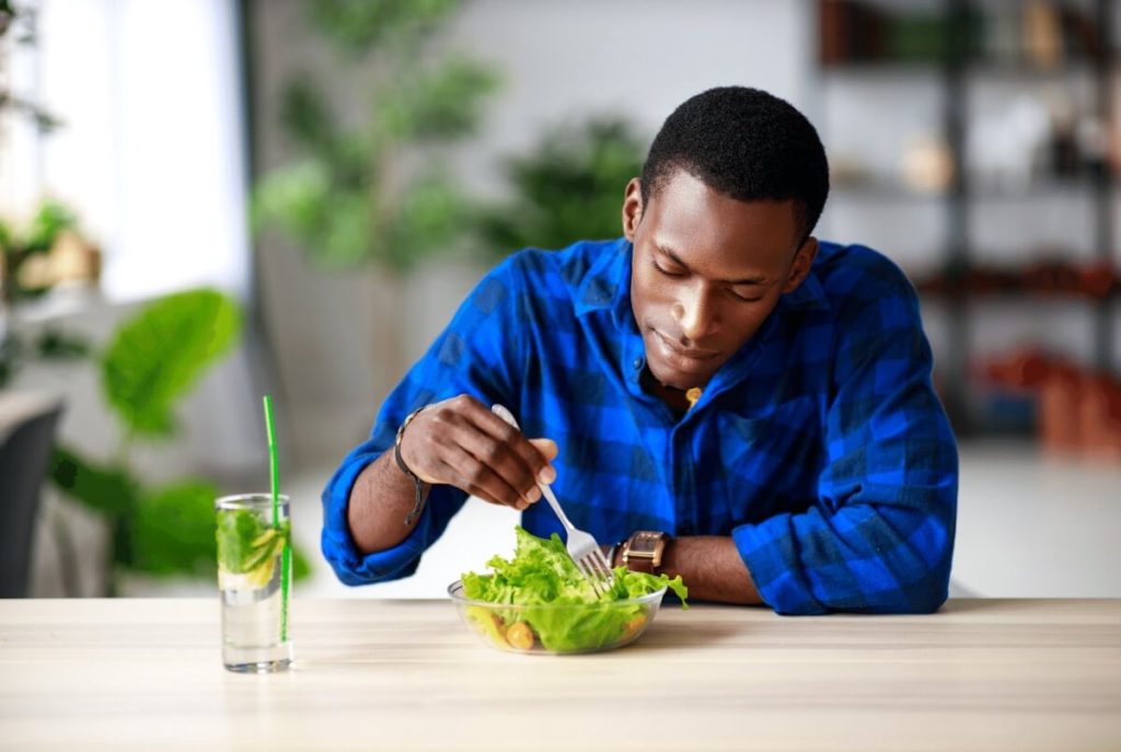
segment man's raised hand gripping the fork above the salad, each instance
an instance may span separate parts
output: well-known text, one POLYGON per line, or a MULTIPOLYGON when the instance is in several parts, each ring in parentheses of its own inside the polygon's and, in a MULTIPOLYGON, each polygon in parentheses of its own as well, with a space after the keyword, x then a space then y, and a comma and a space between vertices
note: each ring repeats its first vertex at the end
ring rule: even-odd
POLYGON ((527 439, 467 394, 428 406, 401 436, 401 458, 421 481, 519 510, 541 498, 538 481, 556 480, 556 456, 555 442, 527 439))

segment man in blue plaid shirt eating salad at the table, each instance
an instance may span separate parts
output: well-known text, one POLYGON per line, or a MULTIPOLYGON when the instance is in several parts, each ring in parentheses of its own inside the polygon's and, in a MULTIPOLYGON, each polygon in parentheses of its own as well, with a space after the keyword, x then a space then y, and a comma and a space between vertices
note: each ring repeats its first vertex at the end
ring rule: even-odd
POLYGON ((906 277, 810 234, 827 193, 788 103, 682 104, 627 185, 623 238, 510 257, 390 394, 324 492, 340 578, 411 574, 469 493, 559 531, 540 480, 623 544, 614 565, 679 574, 696 600, 937 609, 953 434, 906 277))

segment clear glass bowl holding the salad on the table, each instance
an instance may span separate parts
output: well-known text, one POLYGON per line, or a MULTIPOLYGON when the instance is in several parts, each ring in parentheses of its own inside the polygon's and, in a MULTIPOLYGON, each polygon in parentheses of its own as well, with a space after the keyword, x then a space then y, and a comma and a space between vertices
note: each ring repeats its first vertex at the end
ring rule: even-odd
POLYGON ((612 650, 637 640, 658 613, 666 588, 620 601, 524 605, 473 601, 457 579, 447 594, 463 623, 491 648, 571 654, 612 650))

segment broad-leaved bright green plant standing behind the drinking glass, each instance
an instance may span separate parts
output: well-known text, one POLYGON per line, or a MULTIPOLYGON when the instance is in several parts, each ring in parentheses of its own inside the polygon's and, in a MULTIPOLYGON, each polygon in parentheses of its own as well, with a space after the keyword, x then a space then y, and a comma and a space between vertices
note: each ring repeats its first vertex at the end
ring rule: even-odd
MULTIPOLYGON (((130 467, 138 440, 166 439, 177 433, 176 403, 206 369, 237 342, 241 312, 223 294, 200 289, 165 296, 123 322, 96 356, 105 401, 121 426, 112 459, 95 463, 72 448, 57 447, 52 480, 111 529, 104 563, 109 595, 123 572, 214 577, 214 499, 219 489, 201 479, 166 485, 143 483, 130 467)), ((294 553, 294 576, 311 570, 294 553)))

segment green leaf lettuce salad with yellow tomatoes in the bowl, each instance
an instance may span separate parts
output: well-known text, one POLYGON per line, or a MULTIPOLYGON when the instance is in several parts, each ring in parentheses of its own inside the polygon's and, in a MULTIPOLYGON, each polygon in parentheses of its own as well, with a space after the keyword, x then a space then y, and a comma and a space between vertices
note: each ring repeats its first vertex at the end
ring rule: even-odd
POLYGON ((475 604, 467 622, 502 649, 584 652, 618 647, 638 637, 671 589, 688 609, 680 576, 648 575, 615 567, 614 583, 596 596, 557 533, 538 538, 515 528, 513 558, 492 557, 491 574, 465 573, 463 596, 475 604), (481 605, 480 602, 488 605, 481 605), (493 605, 489 605, 493 604, 493 605))

